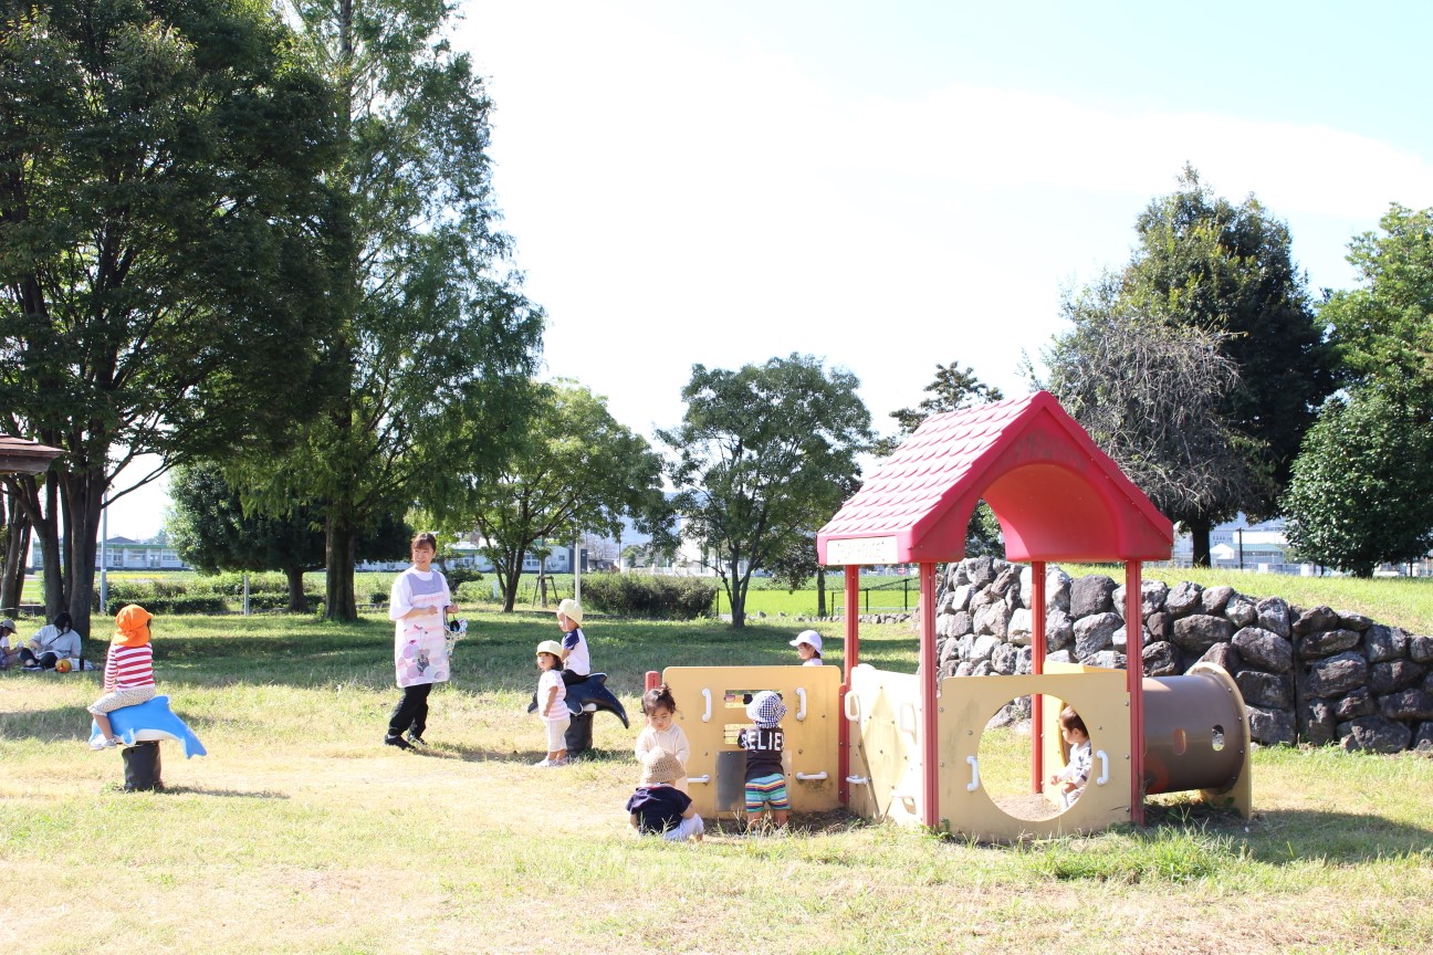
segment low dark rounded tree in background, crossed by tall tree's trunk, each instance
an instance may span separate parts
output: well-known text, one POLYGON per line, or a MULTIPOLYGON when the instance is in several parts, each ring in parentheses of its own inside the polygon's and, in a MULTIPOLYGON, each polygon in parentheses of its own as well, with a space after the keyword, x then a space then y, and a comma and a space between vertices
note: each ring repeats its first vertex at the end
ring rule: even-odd
MULTIPOLYGON (((304 573, 324 566, 322 505, 292 504, 282 514, 244 508, 244 495, 214 462, 176 468, 165 534, 186 564, 203 573, 278 570, 288 581, 288 611, 305 613, 304 573)), ((403 520, 380 518, 358 537, 360 560, 398 560, 411 531, 403 520)))

